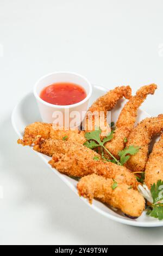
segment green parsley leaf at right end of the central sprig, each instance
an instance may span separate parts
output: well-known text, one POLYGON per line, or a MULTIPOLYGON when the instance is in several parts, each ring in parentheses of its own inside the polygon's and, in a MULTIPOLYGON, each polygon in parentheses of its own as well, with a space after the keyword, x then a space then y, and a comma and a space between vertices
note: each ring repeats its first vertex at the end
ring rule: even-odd
POLYGON ((139 151, 140 147, 133 145, 130 145, 128 148, 123 149, 118 153, 118 156, 120 156, 120 162, 123 166, 124 163, 126 163, 131 155, 135 155, 139 151))

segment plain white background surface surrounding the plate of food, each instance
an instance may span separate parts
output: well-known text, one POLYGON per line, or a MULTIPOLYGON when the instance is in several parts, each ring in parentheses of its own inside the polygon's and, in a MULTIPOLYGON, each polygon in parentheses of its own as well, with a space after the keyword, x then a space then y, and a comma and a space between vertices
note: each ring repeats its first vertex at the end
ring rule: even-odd
POLYGON ((154 82, 143 109, 162 113, 162 13, 161 0, 0 0, 1 244, 163 243, 163 227, 129 227, 90 209, 16 144, 10 121, 35 81, 61 70, 108 89, 154 82))

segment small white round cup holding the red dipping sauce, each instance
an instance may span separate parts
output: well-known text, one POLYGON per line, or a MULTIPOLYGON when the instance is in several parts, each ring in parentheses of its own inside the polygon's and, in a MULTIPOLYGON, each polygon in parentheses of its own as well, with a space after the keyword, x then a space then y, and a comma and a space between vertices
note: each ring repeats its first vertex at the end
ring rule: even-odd
POLYGON ((42 121, 45 123, 57 123, 60 126, 73 128, 73 124, 79 126, 84 118, 84 112, 87 111, 87 105, 92 94, 91 83, 83 76, 72 72, 54 72, 43 76, 35 83, 34 95, 39 106, 42 121), (58 82, 70 82, 82 86, 86 91, 84 100, 66 106, 53 105, 40 98, 40 93, 43 88, 58 82), (61 115, 62 118, 61 118, 61 115), (74 121, 74 116, 75 121, 74 121), (58 117, 58 118, 57 118, 58 117), (62 120, 61 120, 62 119, 62 120))

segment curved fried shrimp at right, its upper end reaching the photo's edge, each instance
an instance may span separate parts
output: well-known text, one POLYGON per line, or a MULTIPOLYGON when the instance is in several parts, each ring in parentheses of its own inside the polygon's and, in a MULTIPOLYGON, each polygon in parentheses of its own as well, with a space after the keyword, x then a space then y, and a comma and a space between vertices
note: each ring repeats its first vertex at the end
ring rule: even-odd
POLYGON ((131 131, 127 147, 130 145, 139 146, 139 152, 130 157, 126 166, 133 172, 142 172, 145 170, 146 162, 148 160, 148 147, 152 138, 158 135, 163 130, 163 114, 158 117, 146 118, 142 120, 131 131))

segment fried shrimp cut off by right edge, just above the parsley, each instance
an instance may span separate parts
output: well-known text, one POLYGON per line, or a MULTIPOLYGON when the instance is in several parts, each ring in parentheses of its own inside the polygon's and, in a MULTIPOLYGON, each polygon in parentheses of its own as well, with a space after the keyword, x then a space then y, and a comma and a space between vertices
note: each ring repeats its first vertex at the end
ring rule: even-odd
POLYGON ((145 170, 145 183, 149 189, 158 180, 163 181, 163 133, 160 140, 154 144, 145 170))

